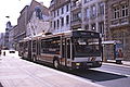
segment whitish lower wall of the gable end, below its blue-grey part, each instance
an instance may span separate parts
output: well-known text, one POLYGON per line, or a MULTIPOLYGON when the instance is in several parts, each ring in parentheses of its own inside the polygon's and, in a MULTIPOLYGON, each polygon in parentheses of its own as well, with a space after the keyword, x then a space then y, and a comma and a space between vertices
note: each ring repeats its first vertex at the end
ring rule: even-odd
POLYGON ((43 34, 43 33, 48 33, 49 28, 50 28, 50 22, 48 20, 49 16, 44 16, 42 20, 39 20, 36 16, 36 12, 34 12, 30 21, 27 24, 27 37, 32 37, 32 36, 37 36, 39 34, 43 34))

